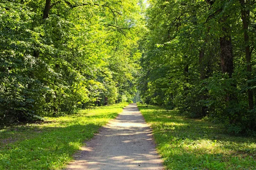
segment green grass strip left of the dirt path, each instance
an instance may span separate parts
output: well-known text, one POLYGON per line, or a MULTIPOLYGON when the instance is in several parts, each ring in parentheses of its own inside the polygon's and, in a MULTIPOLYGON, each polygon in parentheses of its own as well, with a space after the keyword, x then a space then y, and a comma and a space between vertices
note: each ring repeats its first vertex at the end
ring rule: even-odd
POLYGON ((59 170, 73 160, 84 141, 115 118, 128 103, 47 118, 41 125, 0 130, 0 170, 59 170))

